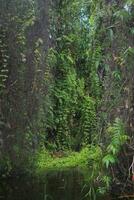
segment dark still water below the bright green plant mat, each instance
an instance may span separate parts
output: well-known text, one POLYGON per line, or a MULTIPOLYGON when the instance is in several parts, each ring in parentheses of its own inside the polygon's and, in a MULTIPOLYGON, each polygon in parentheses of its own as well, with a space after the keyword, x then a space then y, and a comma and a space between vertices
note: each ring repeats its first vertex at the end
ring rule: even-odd
POLYGON ((85 196, 87 192, 83 175, 77 170, 51 171, 39 179, 23 177, 0 182, 3 200, 90 200, 85 196))

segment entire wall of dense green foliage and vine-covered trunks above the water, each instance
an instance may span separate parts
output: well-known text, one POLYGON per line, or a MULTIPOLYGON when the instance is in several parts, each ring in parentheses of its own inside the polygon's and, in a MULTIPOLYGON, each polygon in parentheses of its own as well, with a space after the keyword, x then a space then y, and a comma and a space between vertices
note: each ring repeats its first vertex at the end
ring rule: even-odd
POLYGON ((92 199, 112 182, 130 189, 133 0, 1 0, 0 11, 1 174, 85 166, 92 199))

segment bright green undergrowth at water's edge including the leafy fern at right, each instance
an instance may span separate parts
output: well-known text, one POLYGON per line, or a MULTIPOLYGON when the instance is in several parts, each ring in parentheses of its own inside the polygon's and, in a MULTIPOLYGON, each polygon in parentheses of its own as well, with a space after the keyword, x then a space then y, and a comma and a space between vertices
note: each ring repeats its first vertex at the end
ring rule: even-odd
POLYGON ((49 170, 81 169, 84 179, 88 183, 87 195, 95 200, 96 193, 103 195, 109 191, 112 183, 110 171, 118 162, 121 147, 128 140, 124 125, 119 118, 108 125, 105 134, 108 138, 105 146, 90 144, 80 152, 50 153, 46 149, 41 150, 36 155, 36 174, 42 175, 49 170))

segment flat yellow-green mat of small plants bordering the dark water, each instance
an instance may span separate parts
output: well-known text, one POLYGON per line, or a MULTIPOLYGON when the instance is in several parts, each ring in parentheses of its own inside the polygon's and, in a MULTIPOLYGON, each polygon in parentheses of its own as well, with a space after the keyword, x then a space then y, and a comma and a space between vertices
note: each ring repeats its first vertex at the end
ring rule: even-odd
POLYGON ((74 167, 86 167, 88 165, 89 148, 86 147, 81 152, 67 152, 67 156, 53 157, 46 150, 43 150, 37 155, 36 172, 47 170, 60 170, 74 167))

